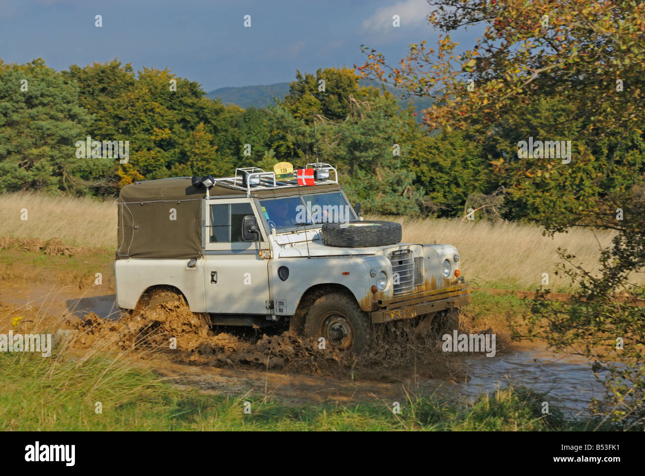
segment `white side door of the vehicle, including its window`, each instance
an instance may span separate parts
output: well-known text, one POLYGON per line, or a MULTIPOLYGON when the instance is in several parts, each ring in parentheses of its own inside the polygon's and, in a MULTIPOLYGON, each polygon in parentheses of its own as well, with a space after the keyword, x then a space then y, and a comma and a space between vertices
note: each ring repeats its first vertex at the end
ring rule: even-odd
POLYGON ((259 226, 259 241, 244 241, 242 219, 255 215, 255 203, 248 198, 206 201, 204 220, 204 285, 206 312, 218 314, 270 314, 268 239, 259 226))

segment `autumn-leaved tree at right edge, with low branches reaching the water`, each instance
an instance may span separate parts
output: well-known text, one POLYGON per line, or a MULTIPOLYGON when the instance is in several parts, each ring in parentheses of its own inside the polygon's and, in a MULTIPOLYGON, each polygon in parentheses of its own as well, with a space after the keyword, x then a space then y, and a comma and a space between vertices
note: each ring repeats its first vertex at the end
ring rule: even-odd
MULTIPOLYGON (((430 130, 466 130, 508 184, 520 215, 548 233, 571 226, 617 232, 601 254, 602 271, 574 266, 581 290, 565 305, 538 300, 532 332, 557 348, 582 344, 584 355, 605 361, 625 347, 630 368, 610 366, 604 381, 614 407, 604 412, 626 424, 645 424, 645 313, 635 303, 645 290, 631 280, 645 268, 645 182, 642 47, 645 4, 631 1, 430 1, 432 26, 442 30, 436 50, 410 46, 400 65, 365 48, 367 75, 430 95, 430 130), (457 53, 450 32, 482 25, 473 48, 457 53), (526 157, 520 141, 571 141, 571 161, 526 157), (629 210, 624 218, 617 210, 629 210), (620 295, 617 295, 620 293, 620 295), (540 319, 548 322, 546 328, 540 319), (614 339, 612 341, 612 338, 614 339)), ((537 148, 539 152, 539 148, 537 148)), ((533 151, 534 152, 534 151, 533 151)), ((533 155, 533 154, 531 154, 533 155)), ((519 215, 515 215, 519 217, 519 215)))

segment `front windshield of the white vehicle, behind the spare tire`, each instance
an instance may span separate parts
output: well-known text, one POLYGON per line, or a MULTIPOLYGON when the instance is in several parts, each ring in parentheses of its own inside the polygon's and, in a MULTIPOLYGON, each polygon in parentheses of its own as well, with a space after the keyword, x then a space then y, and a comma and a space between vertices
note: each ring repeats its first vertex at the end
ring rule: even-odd
POLYGON ((355 220, 353 208, 341 192, 316 193, 301 197, 261 200, 260 206, 269 230, 294 231, 306 225, 342 223, 355 220))

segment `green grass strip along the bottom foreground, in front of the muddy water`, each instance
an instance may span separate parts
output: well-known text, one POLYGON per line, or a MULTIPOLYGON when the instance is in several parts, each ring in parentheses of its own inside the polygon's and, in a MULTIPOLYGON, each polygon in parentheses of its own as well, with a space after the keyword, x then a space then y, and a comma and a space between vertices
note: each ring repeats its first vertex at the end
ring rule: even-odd
POLYGON ((437 395, 401 401, 286 405, 273 399, 223 397, 180 390, 123 357, 65 354, 43 359, 28 353, 0 354, 0 430, 593 430, 593 422, 564 419, 544 395, 504 389, 474 404, 437 395), (103 413, 95 413, 95 402, 103 413), (244 402, 252 413, 244 413, 244 402))

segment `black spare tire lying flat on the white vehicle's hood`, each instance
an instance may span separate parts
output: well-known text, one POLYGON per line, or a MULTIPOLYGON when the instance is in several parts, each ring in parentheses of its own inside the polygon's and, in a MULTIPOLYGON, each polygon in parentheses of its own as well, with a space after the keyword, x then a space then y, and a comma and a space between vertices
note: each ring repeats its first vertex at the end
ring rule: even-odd
POLYGON ((401 243, 401 225, 393 221, 359 221, 324 223, 323 243, 343 248, 383 246, 401 243))

